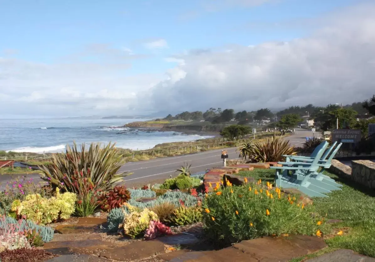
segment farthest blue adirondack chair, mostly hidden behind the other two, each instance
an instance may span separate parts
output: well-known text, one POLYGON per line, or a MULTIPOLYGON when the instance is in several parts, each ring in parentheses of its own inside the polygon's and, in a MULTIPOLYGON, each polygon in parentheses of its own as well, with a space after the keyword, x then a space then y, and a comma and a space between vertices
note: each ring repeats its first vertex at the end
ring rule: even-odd
MULTIPOLYGON (((335 157, 336 153, 340 149, 342 143, 339 143, 338 146, 336 146, 337 142, 333 143, 332 146, 329 147, 329 149, 326 150, 320 161, 318 162, 319 166, 322 167, 321 171, 317 174, 314 174, 314 177, 318 181, 322 181, 328 185, 334 186, 334 187, 342 187, 341 184, 336 183, 336 181, 329 176, 326 176, 323 174, 323 171, 326 170, 327 168, 330 168, 332 159, 335 157), (336 148, 335 148, 336 146, 336 148), (335 148, 335 149, 334 149, 335 148), (333 150, 334 149, 334 150, 333 150), (333 150, 333 151, 332 151, 333 150), (332 153, 331 153, 332 152, 332 153), (330 154, 331 153, 331 154, 330 154), (327 159, 327 156, 330 154, 329 158, 327 159)), ((306 157, 300 157, 300 156, 290 156, 287 158, 286 162, 290 162, 290 160, 294 160, 297 162, 302 162, 301 165, 306 165, 306 162, 311 162, 313 161, 313 158, 306 158, 306 157), (305 163, 303 163, 305 162, 305 163)), ((333 188, 332 188, 333 189, 333 188)), ((335 189, 333 189, 335 190, 335 189)))

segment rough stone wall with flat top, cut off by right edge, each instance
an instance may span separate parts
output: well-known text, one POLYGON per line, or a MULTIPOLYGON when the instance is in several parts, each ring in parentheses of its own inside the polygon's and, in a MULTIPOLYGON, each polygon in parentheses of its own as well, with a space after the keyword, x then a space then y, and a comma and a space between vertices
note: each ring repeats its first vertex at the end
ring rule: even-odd
POLYGON ((375 189, 375 163, 369 160, 352 161, 352 179, 363 186, 375 189))

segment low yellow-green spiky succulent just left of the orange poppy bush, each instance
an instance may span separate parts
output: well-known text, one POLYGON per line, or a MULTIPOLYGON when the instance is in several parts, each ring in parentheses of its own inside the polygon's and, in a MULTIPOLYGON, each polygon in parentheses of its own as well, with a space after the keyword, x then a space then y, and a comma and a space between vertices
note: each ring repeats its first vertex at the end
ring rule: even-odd
POLYGON ((199 208, 180 206, 168 218, 168 222, 178 225, 191 225, 201 221, 202 213, 199 208))

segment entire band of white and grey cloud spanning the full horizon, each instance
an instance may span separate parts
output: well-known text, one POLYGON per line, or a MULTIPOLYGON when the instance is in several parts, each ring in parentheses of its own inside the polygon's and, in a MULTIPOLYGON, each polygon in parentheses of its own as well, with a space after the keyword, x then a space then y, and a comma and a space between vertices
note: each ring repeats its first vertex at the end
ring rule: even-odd
POLYGON ((14 115, 79 116, 361 101, 375 93, 374 13, 374 4, 330 13, 309 37, 288 42, 181 51, 165 58, 177 63, 166 75, 128 76, 131 61, 144 56, 107 45, 78 55, 95 55, 96 63, 0 57, 0 115, 8 108, 14 115))

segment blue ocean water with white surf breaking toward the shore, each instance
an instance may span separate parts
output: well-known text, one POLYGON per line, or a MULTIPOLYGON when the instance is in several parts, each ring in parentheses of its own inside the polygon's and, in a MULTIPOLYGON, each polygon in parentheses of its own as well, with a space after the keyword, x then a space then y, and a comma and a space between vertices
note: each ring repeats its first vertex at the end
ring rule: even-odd
POLYGON ((144 120, 148 119, 0 119, 0 150, 61 152, 73 141, 77 144, 115 142, 117 147, 142 150, 160 143, 211 137, 121 127, 144 120))

